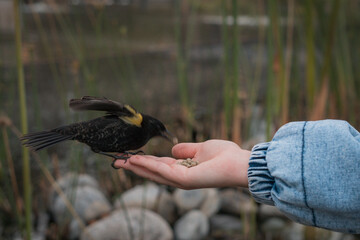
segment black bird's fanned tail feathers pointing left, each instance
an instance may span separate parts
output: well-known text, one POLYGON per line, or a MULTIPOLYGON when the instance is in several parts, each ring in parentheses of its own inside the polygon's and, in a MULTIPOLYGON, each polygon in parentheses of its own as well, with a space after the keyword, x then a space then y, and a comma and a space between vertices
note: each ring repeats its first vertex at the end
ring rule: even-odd
POLYGON ((38 151, 43 148, 52 146, 56 143, 70 139, 72 139, 72 136, 62 135, 54 131, 41 131, 36 133, 29 133, 29 134, 25 134, 20 138, 24 146, 34 151, 38 151))

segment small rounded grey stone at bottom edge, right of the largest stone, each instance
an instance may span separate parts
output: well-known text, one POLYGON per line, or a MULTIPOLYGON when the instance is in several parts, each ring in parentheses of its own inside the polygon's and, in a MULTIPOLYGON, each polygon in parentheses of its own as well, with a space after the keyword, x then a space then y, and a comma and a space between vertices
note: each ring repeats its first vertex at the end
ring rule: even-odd
POLYGON ((178 240, 204 239, 209 235, 209 219, 200 210, 191 210, 176 221, 175 238, 178 240))

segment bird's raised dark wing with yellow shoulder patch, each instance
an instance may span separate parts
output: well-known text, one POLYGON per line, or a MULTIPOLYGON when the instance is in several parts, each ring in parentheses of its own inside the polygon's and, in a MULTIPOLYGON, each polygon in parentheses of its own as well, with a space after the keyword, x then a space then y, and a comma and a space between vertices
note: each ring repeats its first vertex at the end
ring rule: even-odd
POLYGON ((94 110, 105 111, 107 114, 118 116, 123 121, 141 127, 143 117, 135 108, 127 104, 121 104, 105 97, 84 96, 81 99, 71 99, 71 109, 76 111, 94 110))

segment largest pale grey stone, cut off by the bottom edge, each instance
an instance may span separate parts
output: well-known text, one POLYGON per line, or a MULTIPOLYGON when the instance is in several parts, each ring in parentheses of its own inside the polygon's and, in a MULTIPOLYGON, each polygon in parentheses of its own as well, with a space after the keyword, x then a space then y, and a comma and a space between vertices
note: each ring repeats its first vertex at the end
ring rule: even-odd
POLYGON ((173 239, 173 233, 169 224, 157 213, 144 208, 129 208, 116 210, 87 226, 80 239, 169 240, 173 239))

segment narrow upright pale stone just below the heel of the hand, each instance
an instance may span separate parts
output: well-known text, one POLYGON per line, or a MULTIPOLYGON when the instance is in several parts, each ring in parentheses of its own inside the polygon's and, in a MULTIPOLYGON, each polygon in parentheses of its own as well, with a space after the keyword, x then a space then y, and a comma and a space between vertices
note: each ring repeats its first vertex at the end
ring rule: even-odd
POLYGON ((211 217, 216 214, 221 206, 219 191, 216 188, 204 189, 206 196, 200 205, 200 210, 207 216, 211 217))

